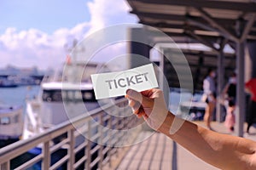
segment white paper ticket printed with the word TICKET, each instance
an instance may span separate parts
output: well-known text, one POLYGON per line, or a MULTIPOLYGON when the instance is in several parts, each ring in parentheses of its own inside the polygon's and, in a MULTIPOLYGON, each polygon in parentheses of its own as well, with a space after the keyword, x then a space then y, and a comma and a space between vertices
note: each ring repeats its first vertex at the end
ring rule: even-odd
POLYGON ((127 71, 93 74, 90 77, 96 99, 125 95, 128 88, 139 92, 158 88, 153 64, 139 66, 127 71))

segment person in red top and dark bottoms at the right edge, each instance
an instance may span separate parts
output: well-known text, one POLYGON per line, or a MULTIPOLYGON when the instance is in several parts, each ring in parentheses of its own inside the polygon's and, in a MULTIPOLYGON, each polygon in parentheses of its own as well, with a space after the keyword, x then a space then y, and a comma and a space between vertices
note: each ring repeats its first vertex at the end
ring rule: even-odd
POLYGON ((246 83, 246 88, 251 94, 247 116, 247 133, 249 133, 249 129, 253 125, 253 122, 256 122, 256 77, 246 83))

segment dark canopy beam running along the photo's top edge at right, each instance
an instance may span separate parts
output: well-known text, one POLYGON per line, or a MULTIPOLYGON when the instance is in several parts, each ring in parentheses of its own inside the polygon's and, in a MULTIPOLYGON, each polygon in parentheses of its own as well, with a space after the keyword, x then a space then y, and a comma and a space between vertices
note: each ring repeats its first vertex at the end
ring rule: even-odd
POLYGON ((128 3, 151 3, 158 5, 176 5, 195 8, 219 8, 243 12, 256 12, 256 3, 228 2, 228 1, 205 1, 205 0, 127 0, 128 3))

